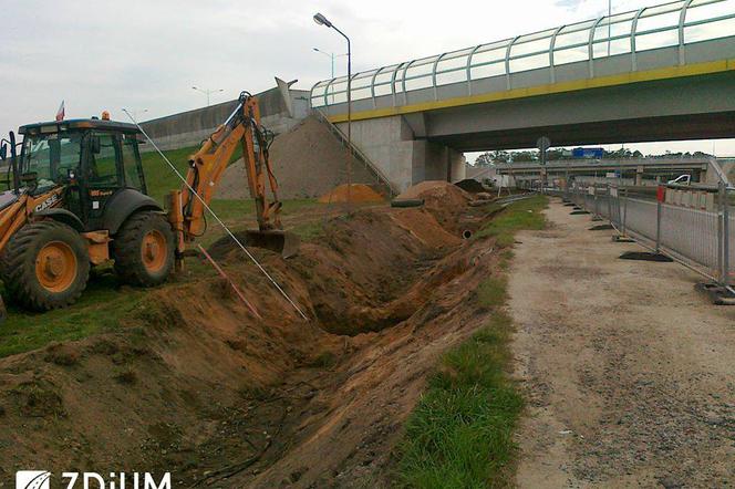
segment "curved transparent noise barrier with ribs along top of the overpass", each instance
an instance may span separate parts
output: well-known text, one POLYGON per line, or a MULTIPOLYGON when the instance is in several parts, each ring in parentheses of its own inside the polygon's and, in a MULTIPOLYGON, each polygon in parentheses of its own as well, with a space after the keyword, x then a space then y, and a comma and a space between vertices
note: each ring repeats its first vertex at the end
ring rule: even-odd
MULTIPOLYGON (((480 44, 383 66, 352 76, 352 100, 391 96, 392 105, 406 103, 407 93, 428 90, 438 100, 445 85, 497 79, 484 86, 510 90, 511 74, 548 69, 548 83, 557 81, 561 66, 587 62, 586 77, 596 75, 596 60, 627 54, 628 66, 639 71, 639 53, 679 48, 679 63, 686 63, 686 45, 735 35, 735 0, 677 0, 635 11, 561 25, 489 44, 480 44), (505 77, 505 80, 504 80, 505 77), (401 96, 402 95, 402 96, 401 96)), ((346 76, 324 80, 311 90, 312 107, 346 103, 346 76)))

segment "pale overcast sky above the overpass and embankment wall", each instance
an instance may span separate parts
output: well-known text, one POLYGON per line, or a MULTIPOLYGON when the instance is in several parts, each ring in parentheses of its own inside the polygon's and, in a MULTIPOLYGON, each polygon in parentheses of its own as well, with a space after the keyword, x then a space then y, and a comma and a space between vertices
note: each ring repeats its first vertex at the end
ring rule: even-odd
MULTIPOLYGON (((613 0, 613 12, 661 3, 613 0)), ((2 0, 0 131, 121 107, 154 118, 196 108, 206 96, 193 85, 224 89, 213 103, 241 90, 273 86, 273 76, 308 89, 330 75, 330 60, 312 51, 344 52, 334 31, 312 21, 320 11, 351 34, 354 70, 501 40, 596 18, 607 0, 2 0), (146 113, 143 110, 147 110, 146 113)), ((343 59, 338 73, 344 72, 343 59)), ((712 150, 711 142, 639 145, 712 150)), ((735 142, 717 142, 735 154, 735 142)))

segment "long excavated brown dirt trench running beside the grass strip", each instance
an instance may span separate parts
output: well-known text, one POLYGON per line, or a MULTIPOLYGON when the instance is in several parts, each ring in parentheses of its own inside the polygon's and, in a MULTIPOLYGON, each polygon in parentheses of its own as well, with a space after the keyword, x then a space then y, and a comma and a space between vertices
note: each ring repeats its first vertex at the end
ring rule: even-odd
MULTIPOLYGON (((454 190, 452 190, 454 191, 454 190)), ((0 480, 14 470, 170 471, 176 487, 389 486, 401 426, 439 354, 487 319, 488 219, 451 206, 329 221, 298 257, 237 251, 220 280, 172 284, 114 334, 0 361, 0 480)))

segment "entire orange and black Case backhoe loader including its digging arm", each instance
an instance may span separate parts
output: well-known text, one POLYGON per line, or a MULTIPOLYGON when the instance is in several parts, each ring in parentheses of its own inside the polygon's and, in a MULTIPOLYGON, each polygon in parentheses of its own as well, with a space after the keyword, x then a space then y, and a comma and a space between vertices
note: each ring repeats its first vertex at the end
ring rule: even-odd
POLYGON ((259 227, 248 231, 249 243, 284 257, 296 252, 298 239, 281 230, 272 136, 260 125, 256 97, 240 95, 191 155, 186 185, 167 196, 165 208, 147 195, 141 131, 107 118, 30 124, 20 128, 22 143, 12 133, 2 141, 9 190, 0 194, 0 278, 13 302, 34 311, 65 308, 82 294, 90 268, 108 260, 125 283, 163 283, 204 232, 205 204, 238 144, 259 227))

